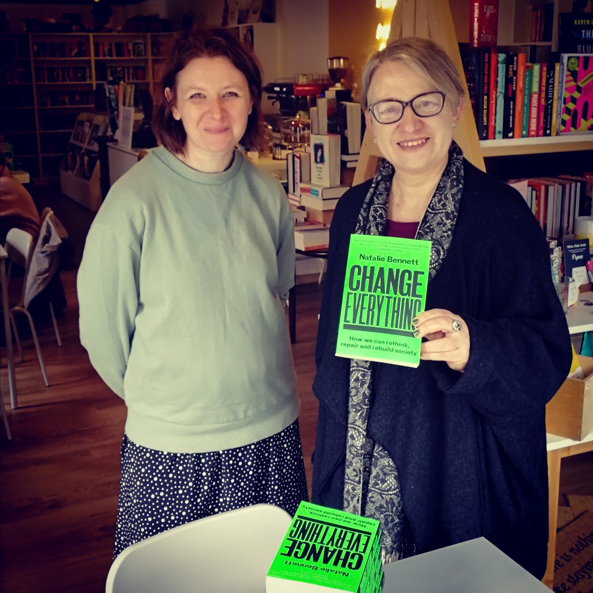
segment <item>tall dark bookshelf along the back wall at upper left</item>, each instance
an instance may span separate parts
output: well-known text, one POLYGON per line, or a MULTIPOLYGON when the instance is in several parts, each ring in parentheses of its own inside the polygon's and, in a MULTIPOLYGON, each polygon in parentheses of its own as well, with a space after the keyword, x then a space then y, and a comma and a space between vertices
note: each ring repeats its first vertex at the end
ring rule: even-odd
POLYGON ((112 69, 154 90, 173 33, 3 33, 0 121, 19 168, 42 183, 60 168, 76 117, 112 69))

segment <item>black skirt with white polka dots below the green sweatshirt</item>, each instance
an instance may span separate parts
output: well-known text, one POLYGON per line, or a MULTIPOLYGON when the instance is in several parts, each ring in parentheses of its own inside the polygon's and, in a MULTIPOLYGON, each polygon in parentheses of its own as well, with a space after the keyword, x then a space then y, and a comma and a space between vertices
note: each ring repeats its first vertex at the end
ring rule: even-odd
POLYGON ((245 447, 168 453, 122 442, 115 558, 127 546, 189 521, 269 503, 294 515, 308 500, 298 420, 245 447))

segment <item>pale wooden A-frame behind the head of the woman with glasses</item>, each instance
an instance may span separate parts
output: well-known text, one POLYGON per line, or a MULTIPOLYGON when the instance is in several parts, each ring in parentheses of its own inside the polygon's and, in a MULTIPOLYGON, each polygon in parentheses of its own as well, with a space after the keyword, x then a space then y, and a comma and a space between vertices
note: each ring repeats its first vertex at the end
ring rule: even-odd
MULTIPOLYGON (((410 36, 432 39, 433 42, 445 49, 455 63, 461 82, 463 82, 466 100, 453 137, 467 160, 485 171, 448 0, 398 0, 393 9, 393 17, 391 17, 389 40, 410 36)), ((381 151, 373 142, 371 130, 367 127, 353 185, 373 177, 381 157, 381 151)))

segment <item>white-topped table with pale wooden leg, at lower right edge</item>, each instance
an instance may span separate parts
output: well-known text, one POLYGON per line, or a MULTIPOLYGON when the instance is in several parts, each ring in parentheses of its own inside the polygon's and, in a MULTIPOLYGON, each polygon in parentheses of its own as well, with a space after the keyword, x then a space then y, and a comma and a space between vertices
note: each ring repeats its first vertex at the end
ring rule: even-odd
POLYGON ((560 489, 560 462, 563 457, 593 451, 593 432, 582 441, 573 441, 563 436, 546 435, 548 451, 548 500, 549 534, 548 561, 543 582, 550 589, 554 584, 554 560, 556 560, 556 528, 558 524, 558 493, 560 489))

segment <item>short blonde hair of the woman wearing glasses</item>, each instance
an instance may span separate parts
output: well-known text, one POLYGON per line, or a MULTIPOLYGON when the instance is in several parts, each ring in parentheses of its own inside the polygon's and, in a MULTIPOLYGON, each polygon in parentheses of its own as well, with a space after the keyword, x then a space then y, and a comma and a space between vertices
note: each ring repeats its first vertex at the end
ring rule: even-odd
POLYGON ((375 52, 366 62, 361 76, 361 107, 368 109, 368 91, 377 68, 385 63, 403 63, 436 90, 445 93, 451 101, 453 110, 457 109, 464 95, 463 85, 457 68, 447 52, 430 39, 422 37, 403 37, 396 39, 380 52, 375 52))

